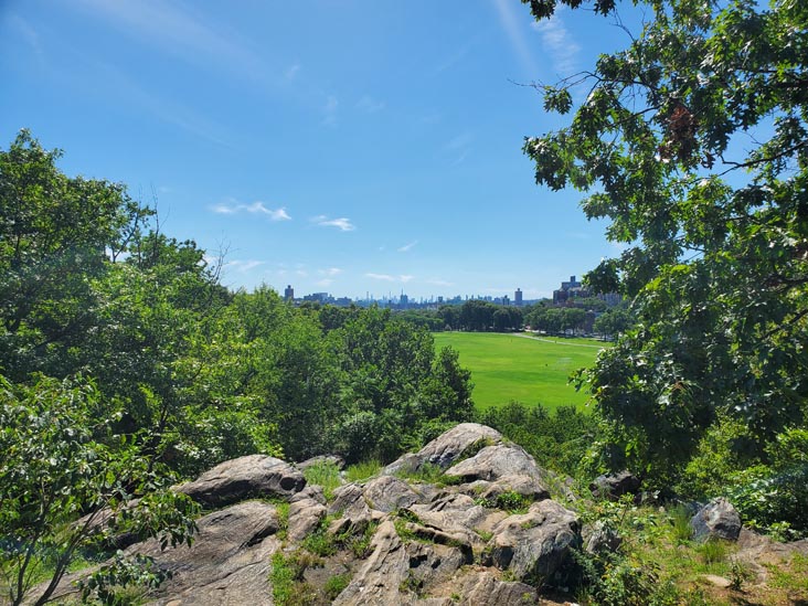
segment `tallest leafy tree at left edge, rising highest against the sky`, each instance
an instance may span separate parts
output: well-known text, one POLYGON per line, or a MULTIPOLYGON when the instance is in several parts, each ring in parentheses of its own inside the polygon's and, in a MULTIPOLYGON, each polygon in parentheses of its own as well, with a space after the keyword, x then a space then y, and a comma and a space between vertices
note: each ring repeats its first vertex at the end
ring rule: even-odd
POLYGON ((93 278, 150 212, 120 184, 68 178, 22 130, 0 150, 0 368, 67 375, 99 304, 93 278))

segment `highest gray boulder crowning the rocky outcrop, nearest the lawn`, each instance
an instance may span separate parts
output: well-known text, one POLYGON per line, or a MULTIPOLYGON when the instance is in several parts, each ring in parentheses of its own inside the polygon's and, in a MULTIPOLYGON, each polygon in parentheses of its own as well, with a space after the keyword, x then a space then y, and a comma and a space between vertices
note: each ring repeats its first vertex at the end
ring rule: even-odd
POLYGON ((446 469, 476 447, 500 444, 501 442, 502 434, 497 429, 479 423, 460 423, 433 439, 416 454, 404 455, 391 463, 382 474, 393 476, 401 471, 417 471, 427 463, 446 469))

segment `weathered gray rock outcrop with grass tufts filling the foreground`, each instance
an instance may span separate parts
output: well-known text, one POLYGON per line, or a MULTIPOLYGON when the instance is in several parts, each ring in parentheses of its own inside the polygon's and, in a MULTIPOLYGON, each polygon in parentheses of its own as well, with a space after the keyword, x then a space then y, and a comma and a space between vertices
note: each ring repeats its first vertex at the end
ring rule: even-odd
MULTIPOLYGON (((482 425, 458 425, 328 499, 301 467, 253 455, 178 487, 217 509, 198 520, 191 546, 127 547, 170 572, 147 602, 536 604, 536 587, 563 585, 584 544, 578 515, 551 498, 570 498, 564 481, 482 425)), ((727 504, 694 520, 700 531, 734 533, 727 504)), ((585 534, 594 549, 597 532, 585 534)))

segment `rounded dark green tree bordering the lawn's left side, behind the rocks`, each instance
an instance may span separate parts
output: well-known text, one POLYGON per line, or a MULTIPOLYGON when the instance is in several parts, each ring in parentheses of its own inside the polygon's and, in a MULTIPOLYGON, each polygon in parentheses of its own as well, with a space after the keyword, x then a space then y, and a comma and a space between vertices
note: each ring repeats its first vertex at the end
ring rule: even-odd
POLYGON ((470 373, 453 350, 436 358, 425 329, 371 307, 329 337, 341 379, 328 442, 347 458, 391 459, 419 442, 430 421, 470 418, 470 373))

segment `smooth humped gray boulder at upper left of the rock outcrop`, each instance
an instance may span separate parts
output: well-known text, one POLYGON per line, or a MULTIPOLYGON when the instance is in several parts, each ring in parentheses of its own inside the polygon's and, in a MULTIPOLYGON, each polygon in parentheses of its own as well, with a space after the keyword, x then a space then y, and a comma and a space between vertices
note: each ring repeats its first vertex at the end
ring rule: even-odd
POLYGON ((306 486, 304 475, 288 463, 266 455, 248 455, 222 463, 192 482, 177 487, 205 507, 222 507, 245 499, 289 499, 306 486))

